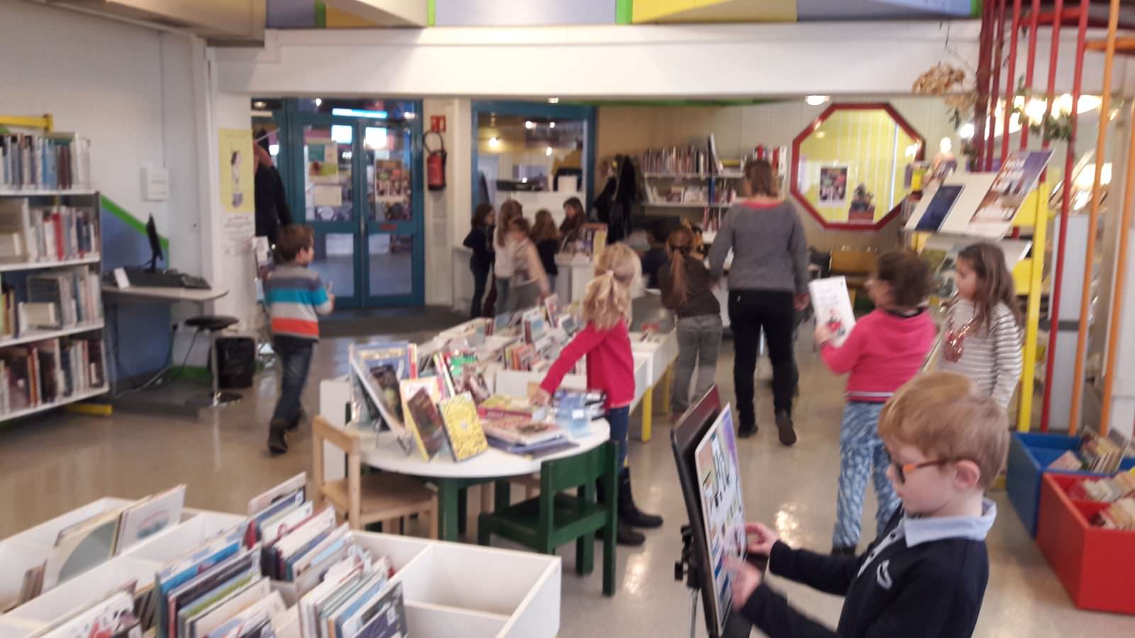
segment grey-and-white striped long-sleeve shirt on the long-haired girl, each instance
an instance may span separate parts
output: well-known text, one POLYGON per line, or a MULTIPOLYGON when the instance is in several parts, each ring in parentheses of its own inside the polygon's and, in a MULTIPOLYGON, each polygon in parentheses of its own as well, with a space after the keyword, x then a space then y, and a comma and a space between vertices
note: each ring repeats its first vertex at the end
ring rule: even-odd
MULTIPOLYGON (((948 325, 960 330, 974 318, 975 311, 974 302, 959 299, 950 309, 948 325)), ((993 309, 990 326, 982 321, 981 326, 975 326, 966 335, 961 358, 948 361, 943 356, 939 360, 939 369, 969 377, 980 392, 992 396, 1002 408, 1008 408, 1020 380, 1022 369, 1020 328, 1012 311, 999 303, 993 309)))

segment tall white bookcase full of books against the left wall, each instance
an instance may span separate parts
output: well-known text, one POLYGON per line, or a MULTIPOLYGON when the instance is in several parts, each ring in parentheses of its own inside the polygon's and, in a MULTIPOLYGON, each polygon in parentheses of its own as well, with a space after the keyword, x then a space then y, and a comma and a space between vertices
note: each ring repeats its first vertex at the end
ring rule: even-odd
POLYGON ((0 422, 109 389, 101 196, 90 186, 87 150, 78 150, 85 141, 52 124, 50 115, 0 116, 0 422))

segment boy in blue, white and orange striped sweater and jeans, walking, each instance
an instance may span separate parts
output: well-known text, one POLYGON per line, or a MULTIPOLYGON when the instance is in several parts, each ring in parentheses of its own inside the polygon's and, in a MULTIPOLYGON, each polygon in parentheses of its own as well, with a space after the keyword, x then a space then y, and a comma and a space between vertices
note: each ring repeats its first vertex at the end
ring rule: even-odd
POLYGON ((268 426, 268 451, 287 452, 284 433, 300 427, 300 397, 311 367, 311 351, 319 341, 319 314, 328 314, 335 297, 319 274, 308 269, 316 255, 311 226, 285 226, 276 252, 284 262, 264 280, 264 302, 271 317, 272 347, 284 376, 276 411, 268 426))

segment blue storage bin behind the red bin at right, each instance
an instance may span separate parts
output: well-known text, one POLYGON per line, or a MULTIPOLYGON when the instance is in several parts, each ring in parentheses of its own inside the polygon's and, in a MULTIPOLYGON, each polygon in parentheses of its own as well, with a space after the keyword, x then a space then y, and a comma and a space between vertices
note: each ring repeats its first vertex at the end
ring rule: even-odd
MULTIPOLYGON (((1069 472, 1065 470, 1048 470, 1050 463, 1069 450, 1079 445, 1078 436, 1052 434, 1014 433, 1009 443, 1009 467, 1006 472, 1006 489, 1009 502, 1020 517, 1025 530, 1036 538, 1036 514, 1041 504, 1041 476, 1044 472, 1059 475, 1101 477, 1095 472, 1069 472)), ((1135 459, 1124 459, 1120 469, 1135 468, 1135 459)))

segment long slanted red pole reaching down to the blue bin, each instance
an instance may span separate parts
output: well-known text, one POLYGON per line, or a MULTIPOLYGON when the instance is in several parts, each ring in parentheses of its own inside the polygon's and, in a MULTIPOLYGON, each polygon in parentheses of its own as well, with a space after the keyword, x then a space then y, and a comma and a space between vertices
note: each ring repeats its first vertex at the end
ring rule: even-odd
MULTIPOLYGON (((1068 212, 1071 207, 1073 162, 1076 159, 1076 128, 1079 123, 1079 95, 1084 83, 1084 42, 1087 40, 1087 12, 1091 0, 1079 0, 1079 25, 1076 32, 1076 66, 1071 81, 1071 132, 1065 153, 1063 186, 1060 188, 1060 238, 1057 241, 1057 265, 1053 271, 1052 299, 1049 301, 1049 347, 1044 363, 1044 398, 1041 402, 1041 431, 1049 431, 1052 409, 1052 368, 1057 358, 1057 335, 1060 334, 1060 293, 1063 282, 1065 246, 1068 242, 1068 212)), ((1100 117, 1107 117, 1100 114, 1100 117)), ((1096 161, 1100 161, 1096 158, 1096 161)), ((1091 267, 1088 265, 1088 267, 1091 267)))

